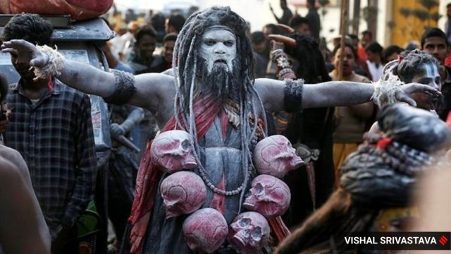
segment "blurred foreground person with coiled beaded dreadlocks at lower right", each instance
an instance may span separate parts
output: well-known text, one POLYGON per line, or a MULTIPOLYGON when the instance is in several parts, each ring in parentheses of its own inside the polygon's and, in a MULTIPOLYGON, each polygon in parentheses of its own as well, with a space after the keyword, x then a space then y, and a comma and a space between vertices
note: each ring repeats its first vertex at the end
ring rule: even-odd
POLYGON ((421 216, 411 198, 424 190, 414 185, 420 173, 443 163, 451 131, 435 114, 404 104, 385 107, 378 124, 381 132, 367 133, 345 160, 340 187, 276 253, 357 253, 362 249, 345 236, 407 231, 408 222, 421 216))

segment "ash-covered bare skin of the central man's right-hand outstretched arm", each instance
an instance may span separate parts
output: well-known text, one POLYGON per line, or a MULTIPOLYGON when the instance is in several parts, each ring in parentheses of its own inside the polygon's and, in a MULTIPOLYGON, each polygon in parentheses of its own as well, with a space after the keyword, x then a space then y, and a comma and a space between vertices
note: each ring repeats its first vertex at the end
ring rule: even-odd
MULTIPOLYGON (((285 110, 284 87, 285 83, 279 80, 260 78, 255 81, 255 86, 265 109, 268 111, 285 110)), ((304 85, 302 92, 302 107, 335 107, 362 104, 371 101, 374 85, 368 83, 356 83, 348 81, 331 81, 315 85, 304 85)), ((416 106, 415 101, 409 97, 414 92, 425 92, 429 95, 438 95, 440 92, 428 85, 410 83, 402 85, 396 93, 400 102, 407 102, 416 106)))

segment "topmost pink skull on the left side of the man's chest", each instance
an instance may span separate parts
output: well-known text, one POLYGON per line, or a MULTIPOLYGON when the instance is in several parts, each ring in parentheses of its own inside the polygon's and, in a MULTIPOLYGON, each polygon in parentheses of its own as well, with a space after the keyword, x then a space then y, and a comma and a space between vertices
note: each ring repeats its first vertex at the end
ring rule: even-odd
POLYGON ((186 131, 165 131, 156 136, 150 147, 152 161, 167 173, 194 169, 191 136, 186 131))

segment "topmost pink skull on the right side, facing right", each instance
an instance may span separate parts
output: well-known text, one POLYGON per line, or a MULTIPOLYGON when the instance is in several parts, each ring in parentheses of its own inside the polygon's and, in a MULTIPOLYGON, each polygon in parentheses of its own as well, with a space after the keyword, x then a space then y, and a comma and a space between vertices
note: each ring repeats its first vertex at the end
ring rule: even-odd
POLYGON ((283 178, 288 171, 297 169, 304 162, 296 155, 295 148, 283 135, 272 135, 261 140, 254 149, 255 168, 259 174, 283 178))

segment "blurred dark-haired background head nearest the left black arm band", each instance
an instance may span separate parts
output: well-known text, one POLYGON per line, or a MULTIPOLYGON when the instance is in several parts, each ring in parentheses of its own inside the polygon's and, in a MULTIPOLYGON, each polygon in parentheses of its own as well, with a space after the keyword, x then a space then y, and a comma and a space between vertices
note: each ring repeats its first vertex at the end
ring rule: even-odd
POLYGON ((154 28, 147 25, 137 31, 135 35, 135 50, 139 59, 152 59, 155 51, 156 32, 154 28))

